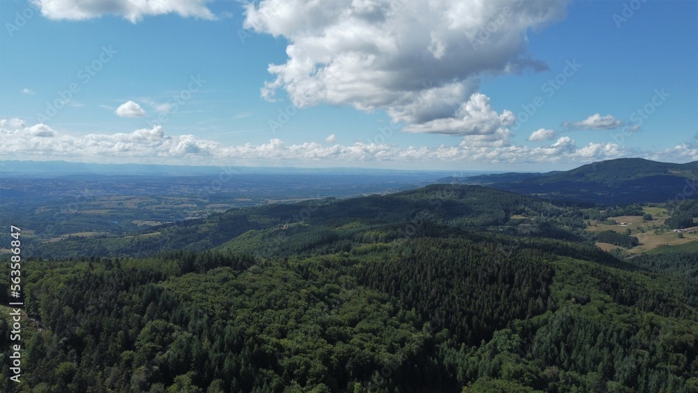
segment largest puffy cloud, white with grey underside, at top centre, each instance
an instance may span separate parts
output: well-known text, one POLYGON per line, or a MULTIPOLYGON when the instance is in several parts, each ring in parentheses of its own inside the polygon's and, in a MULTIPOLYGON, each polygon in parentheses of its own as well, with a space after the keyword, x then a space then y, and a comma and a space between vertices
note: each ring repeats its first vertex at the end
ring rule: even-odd
POLYGON ((330 103, 385 110, 405 131, 503 135, 510 111, 478 93, 481 75, 541 71, 526 47, 529 29, 565 15, 566 1, 262 0, 244 27, 284 37, 285 64, 262 87, 298 107, 330 103), (473 112, 470 112, 473 110, 473 112))

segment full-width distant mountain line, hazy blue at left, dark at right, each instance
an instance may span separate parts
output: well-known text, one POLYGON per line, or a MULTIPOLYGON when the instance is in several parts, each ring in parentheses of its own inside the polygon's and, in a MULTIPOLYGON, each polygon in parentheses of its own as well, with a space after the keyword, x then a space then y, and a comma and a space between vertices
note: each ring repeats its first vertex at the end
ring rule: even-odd
MULTIPOLYGON (((698 161, 660 163, 644 158, 618 158, 546 173, 470 172, 442 177, 445 171, 377 170, 366 168, 275 168, 242 166, 143 165, 68 163, 66 161, 0 161, 0 175, 388 175, 412 184, 468 184, 488 186, 540 198, 625 205, 639 202, 698 198, 698 161), (433 179, 438 179, 433 181, 433 179)), ((376 178, 378 179, 378 178, 376 178)))

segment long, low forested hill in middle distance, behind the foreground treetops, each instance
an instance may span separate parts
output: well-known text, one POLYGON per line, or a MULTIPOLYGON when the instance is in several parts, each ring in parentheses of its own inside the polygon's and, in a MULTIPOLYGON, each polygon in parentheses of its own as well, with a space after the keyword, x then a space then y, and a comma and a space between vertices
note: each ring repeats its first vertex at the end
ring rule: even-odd
POLYGON ((262 232, 278 230, 284 230, 289 236, 301 230, 297 237, 302 242, 318 237, 318 243, 334 239, 339 236, 337 232, 360 229, 394 238, 401 236, 399 232, 413 228, 489 228, 526 232, 537 237, 578 239, 572 232, 575 225, 577 229, 584 226, 578 213, 565 208, 563 202, 482 186, 435 184, 388 195, 230 209, 208 218, 149 228, 135 236, 68 238, 61 242, 29 244, 26 252, 42 258, 144 257, 178 249, 205 251, 226 242, 239 243, 246 237, 260 237, 262 232), (246 234, 250 230, 261 232, 246 234))

